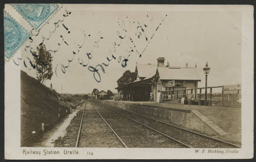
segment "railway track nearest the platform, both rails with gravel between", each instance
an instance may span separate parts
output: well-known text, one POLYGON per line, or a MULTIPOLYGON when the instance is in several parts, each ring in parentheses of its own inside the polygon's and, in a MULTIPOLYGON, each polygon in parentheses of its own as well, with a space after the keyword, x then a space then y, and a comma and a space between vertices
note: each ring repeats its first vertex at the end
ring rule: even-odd
MULTIPOLYGON (((98 102, 98 104, 100 104, 98 102)), ((101 106, 116 112, 130 120, 133 120, 156 133, 169 138, 187 148, 241 148, 241 146, 229 143, 210 136, 199 134, 181 127, 171 125, 144 115, 130 112, 115 106, 100 104, 101 106), (110 108, 111 107, 111 108, 110 108), (143 118, 141 118, 143 117, 143 118)))

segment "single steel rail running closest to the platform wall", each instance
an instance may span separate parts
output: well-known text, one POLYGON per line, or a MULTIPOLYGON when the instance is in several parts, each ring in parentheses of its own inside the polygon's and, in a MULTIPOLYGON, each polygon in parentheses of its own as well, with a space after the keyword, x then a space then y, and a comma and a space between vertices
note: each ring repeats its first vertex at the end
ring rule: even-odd
MULTIPOLYGON (((106 104, 106 105, 108 105, 108 104, 106 104)), ((108 105, 108 106, 115 107, 115 108, 120 109, 120 110, 123 110, 123 111, 131 112, 131 111, 124 110, 124 109, 119 108, 119 107, 116 107, 116 106, 112 106, 112 105, 108 105)), ((184 131, 187 131, 187 132, 189 132, 189 133, 192 133, 192 134, 195 134, 195 135, 199 135, 199 136, 202 136, 202 137, 211 139, 211 140, 213 140, 213 141, 217 141, 217 142, 219 142, 219 143, 225 143, 225 144, 228 144, 228 145, 231 145, 231 146, 235 146, 235 147, 237 147, 237 148, 242 148, 242 146, 239 146, 239 145, 236 145, 236 144, 233 144, 233 143, 229 143, 229 142, 227 142, 227 141, 223 141, 223 140, 220 140, 220 139, 217 139, 217 138, 213 138, 213 137, 210 137, 210 136, 207 136, 207 135, 203 135, 203 134, 200 134, 200 133, 197 133, 197 132, 193 132, 193 131, 188 130, 188 129, 185 129, 185 128, 177 127, 177 126, 175 126, 175 125, 172 125, 172 124, 169 124, 169 123, 165 123, 165 122, 163 122, 163 121, 156 120, 156 119, 153 119, 153 118, 144 116, 144 115, 140 115, 140 114, 137 114, 137 113, 135 113, 135 112, 131 112, 131 113, 136 114, 136 115, 139 115, 139 116, 142 116, 142 117, 145 117, 145 118, 148 118, 148 119, 151 119, 151 120, 155 120, 155 121, 157 121, 157 122, 160 122, 160 123, 169 125, 169 126, 171 126, 171 127, 179 128, 179 129, 181 129, 181 130, 184 130, 184 131)))

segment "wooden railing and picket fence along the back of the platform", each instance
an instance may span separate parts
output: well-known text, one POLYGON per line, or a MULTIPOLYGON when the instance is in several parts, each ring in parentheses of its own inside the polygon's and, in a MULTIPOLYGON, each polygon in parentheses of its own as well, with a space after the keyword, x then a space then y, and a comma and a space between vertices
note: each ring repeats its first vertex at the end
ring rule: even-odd
POLYGON ((207 94, 204 93, 205 87, 191 89, 173 88, 172 90, 159 91, 161 92, 160 102, 178 100, 181 97, 185 97, 188 104, 193 102, 198 105, 204 105, 204 96, 207 95, 206 105, 212 106, 214 104, 225 107, 241 107, 241 84, 207 87, 207 91, 208 89, 210 89, 210 93, 207 94), (213 92, 213 89, 217 88, 221 88, 221 92, 213 92))

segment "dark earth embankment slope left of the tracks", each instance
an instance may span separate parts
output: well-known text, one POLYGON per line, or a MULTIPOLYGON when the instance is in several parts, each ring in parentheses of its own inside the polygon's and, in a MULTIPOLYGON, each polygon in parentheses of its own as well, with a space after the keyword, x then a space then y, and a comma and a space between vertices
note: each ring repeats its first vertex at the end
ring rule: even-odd
POLYGON ((31 135, 42 126, 49 123, 58 114, 65 114, 66 110, 81 101, 79 95, 60 95, 55 90, 40 84, 35 78, 20 71, 20 135, 21 140, 31 135))

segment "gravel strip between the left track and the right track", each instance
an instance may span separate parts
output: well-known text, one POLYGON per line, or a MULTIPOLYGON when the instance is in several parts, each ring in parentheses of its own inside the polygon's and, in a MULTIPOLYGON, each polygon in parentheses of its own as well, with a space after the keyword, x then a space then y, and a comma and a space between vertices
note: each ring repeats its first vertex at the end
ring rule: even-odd
POLYGON ((138 148, 180 148, 172 140, 123 117, 92 101, 94 107, 100 112, 108 124, 128 147, 138 148))

